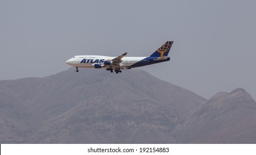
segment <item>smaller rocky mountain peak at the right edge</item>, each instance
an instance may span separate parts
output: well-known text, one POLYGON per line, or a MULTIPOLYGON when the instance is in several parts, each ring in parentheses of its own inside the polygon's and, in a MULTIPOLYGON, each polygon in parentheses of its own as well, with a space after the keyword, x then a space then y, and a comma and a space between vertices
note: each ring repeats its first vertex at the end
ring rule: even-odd
POLYGON ((177 143, 256 143, 256 103, 245 90, 219 92, 175 128, 177 143))

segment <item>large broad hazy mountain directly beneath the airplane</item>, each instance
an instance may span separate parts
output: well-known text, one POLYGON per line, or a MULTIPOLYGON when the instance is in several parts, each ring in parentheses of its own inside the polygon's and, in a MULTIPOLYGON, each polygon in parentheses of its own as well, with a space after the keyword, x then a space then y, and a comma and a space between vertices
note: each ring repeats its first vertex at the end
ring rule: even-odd
POLYGON ((201 96, 141 70, 0 81, 0 143, 176 143, 201 96))

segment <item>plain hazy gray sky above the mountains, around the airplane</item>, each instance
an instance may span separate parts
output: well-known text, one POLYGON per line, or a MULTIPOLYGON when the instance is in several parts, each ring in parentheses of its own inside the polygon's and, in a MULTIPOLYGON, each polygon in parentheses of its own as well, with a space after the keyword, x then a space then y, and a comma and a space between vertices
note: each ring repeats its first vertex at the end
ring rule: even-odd
POLYGON ((0 80, 56 74, 74 55, 148 56, 173 40, 171 61, 140 69, 207 99, 237 87, 256 99, 255 8, 256 1, 1 0, 0 80))

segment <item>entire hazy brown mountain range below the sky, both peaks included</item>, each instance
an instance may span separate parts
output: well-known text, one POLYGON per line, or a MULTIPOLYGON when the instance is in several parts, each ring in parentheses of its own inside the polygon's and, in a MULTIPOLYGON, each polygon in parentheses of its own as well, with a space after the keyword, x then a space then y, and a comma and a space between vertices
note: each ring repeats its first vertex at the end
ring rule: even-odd
POLYGON ((71 68, 0 81, 0 142, 255 143, 255 106, 242 89, 207 101, 141 70, 71 68))

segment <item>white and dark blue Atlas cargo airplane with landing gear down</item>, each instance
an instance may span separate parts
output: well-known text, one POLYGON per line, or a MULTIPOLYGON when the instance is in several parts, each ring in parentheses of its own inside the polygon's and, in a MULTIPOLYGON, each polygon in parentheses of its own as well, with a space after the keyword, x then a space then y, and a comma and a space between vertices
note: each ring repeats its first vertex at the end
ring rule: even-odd
POLYGON ((77 55, 66 61, 66 64, 74 66, 76 72, 78 68, 106 68, 111 73, 113 70, 116 74, 121 73, 121 69, 132 69, 140 66, 146 66, 156 63, 162 63, 169 61, 170 57, 167 57, 173 41, 167 41, 160 48, 158 48, 153 54, 145 57, 128 57, 127 53, 119 55, 117 57, 103 56, 103 55, 77 55))

